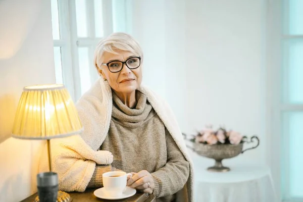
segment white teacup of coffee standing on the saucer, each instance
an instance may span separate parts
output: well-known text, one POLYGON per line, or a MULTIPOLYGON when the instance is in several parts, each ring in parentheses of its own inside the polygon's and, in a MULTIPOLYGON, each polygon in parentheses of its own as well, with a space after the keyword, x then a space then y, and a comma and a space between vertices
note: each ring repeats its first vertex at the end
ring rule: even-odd
POLYGON ((102 175, 103 187, 109 196, 120 196, 126 188, 127 176, 132 174, 122 171, 107 172, 102 175))

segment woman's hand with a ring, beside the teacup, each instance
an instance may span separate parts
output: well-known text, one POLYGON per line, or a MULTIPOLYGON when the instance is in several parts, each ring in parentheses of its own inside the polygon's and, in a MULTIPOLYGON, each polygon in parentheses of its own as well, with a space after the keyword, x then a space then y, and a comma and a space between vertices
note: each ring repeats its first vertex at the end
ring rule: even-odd
POLYGON ((154 179, 148 171, 142 170, 132 174, 132 178, 127 181, 127 186, 138 189, 143 193, 153 193, 155 188, 154 179))

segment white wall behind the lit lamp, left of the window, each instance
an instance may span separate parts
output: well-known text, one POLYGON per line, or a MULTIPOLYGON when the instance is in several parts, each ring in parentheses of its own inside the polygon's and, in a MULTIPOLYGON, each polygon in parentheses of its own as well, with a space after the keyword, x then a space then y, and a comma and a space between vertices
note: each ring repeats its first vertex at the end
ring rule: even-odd
POLYGON ((20 201, 37 190, 45 142, 10 135, 22 88, 56 82, 51 19, 48 0, 0 3, 0 201, 20 201))

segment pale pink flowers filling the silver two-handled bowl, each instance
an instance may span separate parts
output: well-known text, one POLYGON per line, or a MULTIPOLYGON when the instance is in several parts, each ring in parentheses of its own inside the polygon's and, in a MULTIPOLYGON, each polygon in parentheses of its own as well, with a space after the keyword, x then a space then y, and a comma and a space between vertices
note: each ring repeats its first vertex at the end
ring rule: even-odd
POLYGON ((205 129, 198 132, 198 134, 191 139, 193 142, 204 144, 234 144, 243 143, 242 136, 239 132, 234 130, 227 131, 224 127, 214 130, 212 125, 207 125, 205 129))

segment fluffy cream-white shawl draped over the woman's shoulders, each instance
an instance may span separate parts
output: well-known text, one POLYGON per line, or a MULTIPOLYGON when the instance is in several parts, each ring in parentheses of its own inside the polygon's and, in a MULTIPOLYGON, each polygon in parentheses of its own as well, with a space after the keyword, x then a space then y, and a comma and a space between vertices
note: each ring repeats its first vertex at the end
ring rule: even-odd
MULTIPOLYGON (((190 164, 189 178, 184 188, 177 193, 176 199, 193 201, 193 164, 177 120, 170 106, 159 95, 143 85, 138 90, 146 95, 190 164)), ((113 162, 109 151, 98 150, 109 131, 112 105, 111 87, 107 81, 99 78, 76 104, 84 132, 51 140, 53 171, 58 173, 60 190, 85 191, 95 165, 109 165, 113 162)), ((48 171, 46 146, 39 164, 39 172, 45 171, 48 171)))

